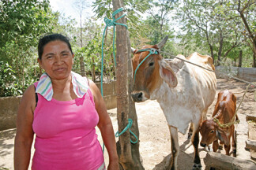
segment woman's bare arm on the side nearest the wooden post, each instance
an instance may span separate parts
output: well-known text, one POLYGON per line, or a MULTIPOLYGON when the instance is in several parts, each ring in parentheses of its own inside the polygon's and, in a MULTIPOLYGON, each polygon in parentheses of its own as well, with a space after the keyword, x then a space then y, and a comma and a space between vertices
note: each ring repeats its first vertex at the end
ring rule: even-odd
POLYGON ((100 117, 98 127, 100 129, 102 138, 104 140, 104 145, 107 148, 107 153, 109 156, 109 165, 107 169, 119 169, 119 157, 116 151, 114 129, 111 123, 111 119, 107 113, 104 99, 102 98, 100 90, 96 84, 92 81, 90 81, 89 84, 93 94, 95 107, 100 117))

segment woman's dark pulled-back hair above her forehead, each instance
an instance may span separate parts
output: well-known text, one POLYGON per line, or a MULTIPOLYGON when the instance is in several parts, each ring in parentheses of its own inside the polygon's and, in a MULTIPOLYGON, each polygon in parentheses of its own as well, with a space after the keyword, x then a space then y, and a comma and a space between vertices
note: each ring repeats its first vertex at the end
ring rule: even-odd
POLYGON ((38 57, 41 60, 42 59, 42 54, 43 54, 43 47, 45 45, 47 45, 47 43, 52 42, 52 41, 62 41, 62 42, 66 42, 66 44, 69 46, 69 49, 71 51, 71 54, 73 54, 71 45, 70 45, 70 40, 61 34, 51 34, 51 35, 45 35, 43 36, 43 38, 40 39, 39 43, 38 43, 38 57))

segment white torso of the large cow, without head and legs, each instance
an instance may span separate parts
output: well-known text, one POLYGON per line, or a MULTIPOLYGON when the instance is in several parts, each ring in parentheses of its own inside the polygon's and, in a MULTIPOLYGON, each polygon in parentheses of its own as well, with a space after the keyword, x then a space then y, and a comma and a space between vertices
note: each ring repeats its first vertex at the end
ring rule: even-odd
POLYGON ((197 53, 187 58, 183 55, 177 57, 182 60, 175 58, 167 61, 177 77, 177 87, 170 88, 167 83, 163 83, 154 94, 159 96, 157 101, 164 111, 168 124, 178 127, 184 134, 188 124, 198 124, 201 116, 204 116, 209 105, 213 103, 216 94, 216 75, 214 71, 186 62, 188 60, 213 70, 214 66, 209 57, 197 56, 197 53))

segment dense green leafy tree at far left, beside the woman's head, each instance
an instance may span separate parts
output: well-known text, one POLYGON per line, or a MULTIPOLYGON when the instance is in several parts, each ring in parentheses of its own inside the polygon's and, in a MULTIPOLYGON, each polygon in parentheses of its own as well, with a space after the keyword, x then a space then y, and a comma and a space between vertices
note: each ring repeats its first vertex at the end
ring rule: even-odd
POLYGON ((38 67, 31 65, 36 65, 38 39, 52 31, 55 16, 47 0, 3 0, 0 7, 0 61, 11 66, 18 92, 13 94, 20 94, 37 76, 38 67))

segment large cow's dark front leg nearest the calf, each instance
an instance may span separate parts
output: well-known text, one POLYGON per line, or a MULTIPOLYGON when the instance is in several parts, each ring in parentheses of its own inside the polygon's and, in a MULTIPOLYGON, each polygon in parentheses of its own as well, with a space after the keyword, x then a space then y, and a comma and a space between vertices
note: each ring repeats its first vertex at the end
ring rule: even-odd
POLYGON ((198 144, 199 144, 199 129, 198 129, 199 124, 194 124, 194 131, 192 135, 191 142, 194 146, 194 165, 193 169, 201 169, 201 160, 199 157, 199 152, 198 152, 198 144))

